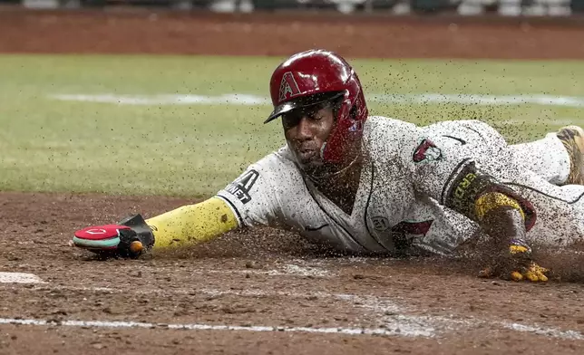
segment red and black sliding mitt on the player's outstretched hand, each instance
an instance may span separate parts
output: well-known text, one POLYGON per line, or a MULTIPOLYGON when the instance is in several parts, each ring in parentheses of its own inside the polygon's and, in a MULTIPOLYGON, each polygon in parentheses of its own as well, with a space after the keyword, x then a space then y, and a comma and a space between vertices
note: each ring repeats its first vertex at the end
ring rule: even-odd
POLYGON ((154 235, 141 215, 130 216, 116 225, 93 225, 73 236, 73 245, 102 256, 135 258, 154 245, 154 235))

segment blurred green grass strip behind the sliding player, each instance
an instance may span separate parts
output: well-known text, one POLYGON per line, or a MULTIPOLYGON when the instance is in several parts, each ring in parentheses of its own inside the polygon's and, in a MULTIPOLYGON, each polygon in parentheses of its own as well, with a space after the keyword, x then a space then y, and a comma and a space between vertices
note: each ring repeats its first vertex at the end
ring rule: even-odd
MULTIPOLYGON (((281 58, 0 56, 0 190, 209 196, 284 144, 268 106, 130 106, 54 101, 52 93, 268 95, 281 58)), ((369 93, 584 96, 584 62, 355 61, 369 93)), ((371 104, 429 123, 481 118, 511 142, 534 139, 584 108, 371 104), (521 122, 524 122, 521 124, 521 122)))

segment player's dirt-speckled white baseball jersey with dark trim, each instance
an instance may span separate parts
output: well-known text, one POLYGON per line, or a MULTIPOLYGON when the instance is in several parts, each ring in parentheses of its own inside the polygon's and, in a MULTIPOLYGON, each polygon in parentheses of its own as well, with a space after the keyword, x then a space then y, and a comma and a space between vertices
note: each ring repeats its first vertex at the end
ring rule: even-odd
MULTIPOLYGON (((241 226, 293 230, 340 251, 451 254, 478 231, 471 219, 443 206, 455 194, 454 182, 457 178, 460 182, 472 162, 501 181, 521 181, 516 190, 535 198, 531 202, 536 210, 556 197, 541 199, 540 189, 525 190, 526 186, 547 184, 552 189, 548 195, 559 198, 584 193, 584 188, 577 188, 562 195, 560 187, 525 171, 508 147, 496 130, 476 120, 417 127, 374 116, 365 122, 365 162, 350 215, 314 187, 286 146, 249 166, 217 195, 228 202, 241 226)), ((566 208, 571 214, 566 220, 573 217, 572 209, 566 208)), ((553 229, 539 214, 536 232, 530 234, 548 237, 553 229)))

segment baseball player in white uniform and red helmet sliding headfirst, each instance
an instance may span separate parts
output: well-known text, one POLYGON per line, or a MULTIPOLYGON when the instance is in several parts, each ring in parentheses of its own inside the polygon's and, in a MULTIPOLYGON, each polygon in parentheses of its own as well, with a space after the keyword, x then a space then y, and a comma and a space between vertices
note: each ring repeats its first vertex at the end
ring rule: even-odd
POLYGON ((570 126, 508 145, 477 120, 419 127, 369 116, 357 74, 336 53, 282 62, 270 81, 287 145, 216 196, 75 232, 73 244, 136 257, 239 227, 269 225, 349 254, 452 255, 482 239, 484 276, 545 282, 530 245, 584 235, 584 131, 570 126))

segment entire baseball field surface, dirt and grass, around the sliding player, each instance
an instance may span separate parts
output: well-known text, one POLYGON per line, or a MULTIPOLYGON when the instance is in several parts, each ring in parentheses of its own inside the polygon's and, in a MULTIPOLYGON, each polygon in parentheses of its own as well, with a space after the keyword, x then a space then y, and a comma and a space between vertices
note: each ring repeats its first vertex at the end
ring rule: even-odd
POLYGON ((351 59, 372 114, 485 120, 519 142, 584 124, 582 28, 0 10, 0 353, 584 353, 577 253, 530 284, 339 257, 268 228, 140 260, 69 245, 210 197, 283 145, 262 122, 291 53, 351 59))

